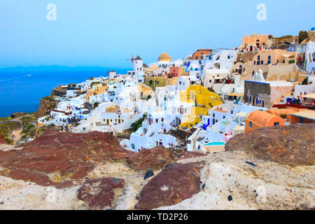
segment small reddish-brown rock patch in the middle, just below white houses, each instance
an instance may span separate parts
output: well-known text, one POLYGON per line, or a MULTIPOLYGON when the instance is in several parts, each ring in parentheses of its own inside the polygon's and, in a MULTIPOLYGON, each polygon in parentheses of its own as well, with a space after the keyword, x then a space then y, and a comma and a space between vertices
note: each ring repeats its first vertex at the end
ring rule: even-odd
POLYGON ((132 169, 157 170, 175 161, 175 154, 169 148, 157 146, 151 149, 143 149, 139 153, 130 155, 128 163, 132 169))

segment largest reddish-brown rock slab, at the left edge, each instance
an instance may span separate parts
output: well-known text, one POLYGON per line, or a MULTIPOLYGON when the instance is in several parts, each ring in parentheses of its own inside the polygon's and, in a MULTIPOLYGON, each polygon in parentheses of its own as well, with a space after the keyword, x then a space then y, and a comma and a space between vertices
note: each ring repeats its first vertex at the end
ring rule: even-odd
POLYGON ((0 151, 0 166, 7 170, 0 174, 62 188, 69 186, 71 179, 87 176, 98 163, 127 159, 132 154, 108 132, 73 134, 48 130, 25 144, 21 151, 0 151), (66 180, 65 184, 52 183, 48 179, 47 174, 55 172, 60 174, 59 182, 66 180))

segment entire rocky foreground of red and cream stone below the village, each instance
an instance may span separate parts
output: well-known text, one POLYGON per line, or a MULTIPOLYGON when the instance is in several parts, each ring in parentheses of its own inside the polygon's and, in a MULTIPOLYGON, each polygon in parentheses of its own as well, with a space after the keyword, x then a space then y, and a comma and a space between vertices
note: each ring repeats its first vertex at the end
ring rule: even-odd
POLYGON ((49 130, 0 145, 0 209, 315 209, 315 125, 269 127, 226 151, 125 151, 109 133, 49 130))

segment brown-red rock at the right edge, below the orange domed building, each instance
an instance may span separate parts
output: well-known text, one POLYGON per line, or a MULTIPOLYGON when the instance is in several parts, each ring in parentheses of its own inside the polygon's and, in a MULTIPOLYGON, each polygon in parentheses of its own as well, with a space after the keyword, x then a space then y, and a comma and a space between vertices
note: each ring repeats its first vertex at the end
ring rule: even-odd
POLYGON ((315 124, 265 127, 238 134, 225 151, 245 151, 261 160, 281 165, 315 165, 315 124))

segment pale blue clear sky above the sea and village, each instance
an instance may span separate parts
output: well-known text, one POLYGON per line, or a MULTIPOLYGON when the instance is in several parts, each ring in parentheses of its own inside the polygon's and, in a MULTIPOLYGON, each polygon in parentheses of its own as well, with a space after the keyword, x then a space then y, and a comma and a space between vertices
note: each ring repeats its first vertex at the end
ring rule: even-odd
POLYGON ((315 27, 314 0, 0 0, 0 67, 111 66, 140 55, 150 63, 197 48, 232 48, 243 35, 297 35, 315 27), (57 20, 48 21, 48 3, 57 20), (258 21, 258 3, 267 20, 258 21))

